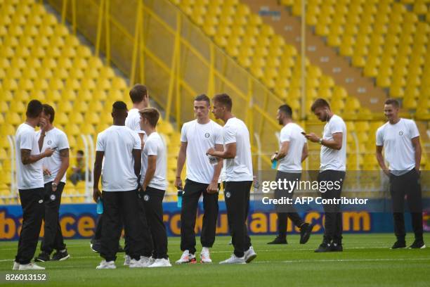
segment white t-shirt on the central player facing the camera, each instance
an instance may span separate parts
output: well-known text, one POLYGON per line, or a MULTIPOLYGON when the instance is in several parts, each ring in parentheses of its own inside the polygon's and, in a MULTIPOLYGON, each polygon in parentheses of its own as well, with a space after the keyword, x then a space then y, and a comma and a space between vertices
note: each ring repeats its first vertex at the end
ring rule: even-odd
POLYGON ((181 130, 181 141, 187 143, 187 179, 210 184, 214 177, 214 166, 206 152, 216 144, 223 144, 222 127, 213 120, 201 125, 197 120, 185 122, 181 130))

